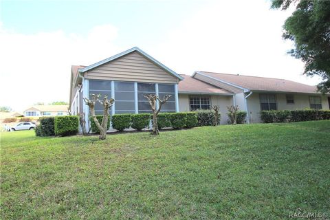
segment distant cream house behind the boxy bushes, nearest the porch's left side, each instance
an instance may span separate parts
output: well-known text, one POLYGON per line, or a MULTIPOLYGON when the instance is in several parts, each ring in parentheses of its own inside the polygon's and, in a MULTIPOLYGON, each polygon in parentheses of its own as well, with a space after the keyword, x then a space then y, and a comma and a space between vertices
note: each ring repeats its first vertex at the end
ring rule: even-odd
POLYGON ((25 109, 25 117, 40 117, 40 116, 56 116, 56 115, 69 115, 68 105, 34 105, 25 109))

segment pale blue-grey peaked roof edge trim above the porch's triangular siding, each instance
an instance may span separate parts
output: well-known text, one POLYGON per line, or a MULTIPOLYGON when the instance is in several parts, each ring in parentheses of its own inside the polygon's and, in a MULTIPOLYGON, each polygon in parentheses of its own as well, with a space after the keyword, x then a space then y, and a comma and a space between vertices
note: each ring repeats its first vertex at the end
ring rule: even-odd
POLYGON ((126 54, 130 54, 131 52, 139 52, 140 54, 142 54, 142 56, 144 56, 145 58, 147 58, 149 61, 151 61, 152 63, 154 63, 155 65, 159 66, 160 68, 164 69, 166 72, 168 72, 168 74, 179 78, 179 80, 183 80, 183 78, 177 74, 176 72, 174 72, 172 69, 166 67, 164 64, 160 63, 159 61, 157 61, 155 58, 153 58, 152 56, 146 54, 146 52, 144 52, 143 50, 141 50, 139 47, 133 47, 129 50, 126 50, 124 52, 121 52, 120 54, 116 54, 114 56, 111 56, 109 58, 104 59, 103 61, 100 61, 98 63, 94 63, 92 65, 89 65, 88 67, 85 67, 83 69, 79 69, 78 72, 80 73, 84 73, 87 72, 91 69, 94 69, 96 67, 99 67, 100 65, 103 65, 104 63, 108 63, 110 61, 113 61, 117 58, 120 58, 122 56, 125 56, 126 54))

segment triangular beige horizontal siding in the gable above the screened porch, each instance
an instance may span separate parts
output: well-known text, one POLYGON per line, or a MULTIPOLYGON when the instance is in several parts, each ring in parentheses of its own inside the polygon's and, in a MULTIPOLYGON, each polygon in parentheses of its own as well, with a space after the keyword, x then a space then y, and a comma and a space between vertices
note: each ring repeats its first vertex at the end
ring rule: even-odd
POLYGON ((100 67, 91 69, 85 78, 146 83, 178 83, 178 79, 138 52, 132 52, 100 67))

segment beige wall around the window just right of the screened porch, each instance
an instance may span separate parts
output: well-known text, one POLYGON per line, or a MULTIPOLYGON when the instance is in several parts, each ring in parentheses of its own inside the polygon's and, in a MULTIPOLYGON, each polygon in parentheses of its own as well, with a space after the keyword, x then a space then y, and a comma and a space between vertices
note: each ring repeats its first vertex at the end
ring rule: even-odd
MULTIPOLYGON (((200 94, 196 94, 201 96, 200 94)), ((189 108, 189 94, 179 94, 179 111, 190 111, 189 108)), ((227 116, 227 107, 232 104, 232 96, 210 96, 211 97, 211 105, 219 105, 221 112, 221 124, 228 124, 228 116, 227 116)))

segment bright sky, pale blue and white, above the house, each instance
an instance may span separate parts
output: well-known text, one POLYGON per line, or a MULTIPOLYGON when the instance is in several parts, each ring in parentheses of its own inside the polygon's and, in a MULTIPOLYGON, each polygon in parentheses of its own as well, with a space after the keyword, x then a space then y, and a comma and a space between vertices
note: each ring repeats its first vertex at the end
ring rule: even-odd
POLYGON ((282 26, 292 13, 267 0, 0 1, 0 106, 69 100, 71 65, 91 65, 137 46, 173 69, 302 76, 282 26), (23 93, 22 93, 23 91, 23 93), (22 98, 23 97, 23 98, 22 98), (19 100, 19 102, 17 101, 19 100))

